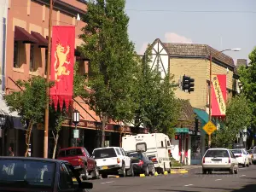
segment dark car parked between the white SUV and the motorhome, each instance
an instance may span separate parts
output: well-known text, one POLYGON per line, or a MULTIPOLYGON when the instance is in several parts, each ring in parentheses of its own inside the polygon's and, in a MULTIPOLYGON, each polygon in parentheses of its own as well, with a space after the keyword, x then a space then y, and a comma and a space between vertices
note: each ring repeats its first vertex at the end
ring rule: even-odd
POLYGON ((129 153, 127 155, 131 158, 131 164, 135 173, 144 173, 145 176, 148 176, 149 174, 154 175, 154 163, 152 160, 148 160, 146 154, 138 151, 129 153))

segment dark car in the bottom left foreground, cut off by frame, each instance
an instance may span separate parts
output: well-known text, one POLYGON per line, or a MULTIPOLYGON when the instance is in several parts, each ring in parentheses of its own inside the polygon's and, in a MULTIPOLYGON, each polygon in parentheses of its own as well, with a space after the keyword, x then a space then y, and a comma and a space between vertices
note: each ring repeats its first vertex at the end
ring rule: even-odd
POLYGON ((92 189, 67 161, 31 157, 0 157, 0 191, 77 191, 92 189))

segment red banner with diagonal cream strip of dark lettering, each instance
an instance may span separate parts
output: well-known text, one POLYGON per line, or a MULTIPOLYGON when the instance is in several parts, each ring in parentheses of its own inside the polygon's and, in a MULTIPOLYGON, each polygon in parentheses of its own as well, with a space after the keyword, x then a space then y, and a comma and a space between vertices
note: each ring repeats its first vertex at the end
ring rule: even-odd
POLYGON ((226 115, 226 84, 226 75, 212 75, 212 117, 224 118, 226 115))

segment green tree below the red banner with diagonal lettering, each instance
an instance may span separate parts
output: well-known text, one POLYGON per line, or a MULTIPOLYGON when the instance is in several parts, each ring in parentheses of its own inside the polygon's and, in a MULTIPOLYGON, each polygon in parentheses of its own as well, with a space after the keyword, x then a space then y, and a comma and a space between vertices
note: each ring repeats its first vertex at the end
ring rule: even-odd
POLYGON ((252 111, 246 96, 232 97, 227 102, 224 125, 212 137, 212 144, 230 148, 236 141, 236 134, 251 124, 252 111))

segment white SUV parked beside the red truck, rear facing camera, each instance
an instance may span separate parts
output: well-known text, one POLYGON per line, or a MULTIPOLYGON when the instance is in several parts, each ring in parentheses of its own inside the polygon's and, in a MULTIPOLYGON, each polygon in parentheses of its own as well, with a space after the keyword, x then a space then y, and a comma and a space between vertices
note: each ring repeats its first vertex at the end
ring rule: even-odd
POLYGON ((92 155, 102 178, 107 178, 108 175, 134 176, 131 158, 125 154, 123 148, 95 148, 92 155))

